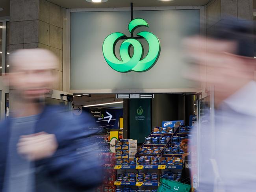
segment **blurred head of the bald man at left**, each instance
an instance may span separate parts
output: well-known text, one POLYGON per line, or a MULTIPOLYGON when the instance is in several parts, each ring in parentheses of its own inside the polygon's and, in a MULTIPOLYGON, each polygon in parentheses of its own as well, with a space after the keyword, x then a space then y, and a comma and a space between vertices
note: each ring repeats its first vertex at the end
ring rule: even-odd
POLYGON ((57 57, 44 49, 22 49, 10 55, 9 84, 19 89, 23 100, 38 101, 57 79, 53 72, 57 57))

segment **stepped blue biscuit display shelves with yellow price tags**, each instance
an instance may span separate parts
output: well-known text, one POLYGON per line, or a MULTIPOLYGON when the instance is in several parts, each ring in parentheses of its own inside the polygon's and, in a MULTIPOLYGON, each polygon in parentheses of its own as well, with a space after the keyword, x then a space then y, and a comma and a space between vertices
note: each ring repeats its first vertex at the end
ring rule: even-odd
POLYGON ((117 180, 114 184, 117 186, 117 192, 122 191, 121 189, 124 189, 123 191, 125 192, 143 192, 143 190, 154 192, 158 188, 161 177, 173 181, 176 181, 180 177, 183 151, 180 150, 179 145, 181 140, 187 138, 189 135, 189 133, 184 133, 187 127, 177 127, 175 133, 173 133, 174 129, 172 128, 168 128, 169 133, 161 130, 166 129, 161 127, 154 128, 152 133, 145 139, 145 142, 135 155, 134 164, 115 165, 117 180), (163 141, 165 141, 165 144, 163 144, 163 141), (173 151, 170 151, 170 148, 176 148, 174 154, 172 153, 173 151), (150 151, 147 152, 147 149, 150 151), (154 154, 153 150, 158 153, 155 152, 154 154), (143 151, 146 152, 143 153, 143 151), (136 180, 134 179, 134 175, 136 175, 136 180), (132 178, 132 181, 129 180, 129 177, 132 178), (150 182, 150 177, 151 179, 153 177, 157 178, 157 180, 150 182), (127 187, 130 189, 127 189, 127 187))

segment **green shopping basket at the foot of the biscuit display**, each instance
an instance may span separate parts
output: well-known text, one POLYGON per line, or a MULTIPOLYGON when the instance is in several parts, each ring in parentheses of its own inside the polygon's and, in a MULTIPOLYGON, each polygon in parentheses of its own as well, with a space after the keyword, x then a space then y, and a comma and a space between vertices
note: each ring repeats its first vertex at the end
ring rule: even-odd
POLYGON ((161 179, 157 192, 189 192, 191 186, 169 179, 161 179))

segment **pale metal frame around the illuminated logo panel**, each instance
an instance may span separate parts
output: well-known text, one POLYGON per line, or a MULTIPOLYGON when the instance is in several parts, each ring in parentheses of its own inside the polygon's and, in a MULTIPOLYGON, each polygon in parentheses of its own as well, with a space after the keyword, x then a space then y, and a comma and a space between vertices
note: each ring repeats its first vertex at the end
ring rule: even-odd
MULTIPOLYGON (((134 7, 134 11, 160 11, 160 10, 200 10, 200 33, 206 31, 205 6, 169 6, 169 7, 134 7)), ((199 92, 204 88, 200 82, 200 88, 171 88, 171 89, 70 89, 70 15, 72 12, 98 12, 98 11, 130 11, 130 7, 114 8, 88 8, 65 9, 63 24, 63 90, 67 92, 84 94, 122 94, 122 93, 187 93, 199 92)), ((205 69, 200 69, 200 74, 205 75, 205 69)))

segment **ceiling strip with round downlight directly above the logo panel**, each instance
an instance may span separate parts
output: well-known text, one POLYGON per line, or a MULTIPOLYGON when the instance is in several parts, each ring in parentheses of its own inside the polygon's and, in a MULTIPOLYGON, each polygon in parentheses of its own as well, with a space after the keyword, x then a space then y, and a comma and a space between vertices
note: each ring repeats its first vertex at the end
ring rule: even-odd
POLYGON ((105 3, 90 3, 85 0, 48 0, 54 4, 65 8, 107 8, 107 7, 129 7, 134 3, 134 7, 161 7, 161 6, 201 6, 210 0, 174 0, 161 2, 157 0, 108 0, 105 3))

